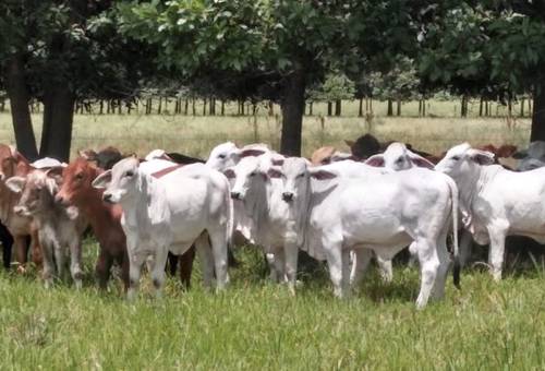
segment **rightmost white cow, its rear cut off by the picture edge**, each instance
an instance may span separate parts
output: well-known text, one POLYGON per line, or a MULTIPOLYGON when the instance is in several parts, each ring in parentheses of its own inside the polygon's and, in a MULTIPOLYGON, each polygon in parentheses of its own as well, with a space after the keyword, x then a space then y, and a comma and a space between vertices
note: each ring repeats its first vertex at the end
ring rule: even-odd
POLYGON ((545 242, 545 168, 514 172, 493 164, 492 153, 463 143, 450 148, 436 170, 457 182, 465 227, 477 243, 491 243, 488 261, 499 280, 506 236, 545 242))

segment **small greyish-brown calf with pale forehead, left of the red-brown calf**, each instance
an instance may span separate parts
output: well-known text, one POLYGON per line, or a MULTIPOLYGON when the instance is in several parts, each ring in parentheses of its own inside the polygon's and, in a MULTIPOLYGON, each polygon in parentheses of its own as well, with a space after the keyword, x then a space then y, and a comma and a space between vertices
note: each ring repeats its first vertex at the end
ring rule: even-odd
POLYGON ((5 182, 21 199, 14 211, 23 217, 33 217, 41 242, 44 256, 43 277, 46 288, 53 275, 63 277, 66 251, 70 252, 70 273, 76 288, 82 287, 82 235, 85 220, 75 207, 65 207, 55 201, 58 191, 56 179, 46 171, 33 170, 26 177, 12 177, 5 182))

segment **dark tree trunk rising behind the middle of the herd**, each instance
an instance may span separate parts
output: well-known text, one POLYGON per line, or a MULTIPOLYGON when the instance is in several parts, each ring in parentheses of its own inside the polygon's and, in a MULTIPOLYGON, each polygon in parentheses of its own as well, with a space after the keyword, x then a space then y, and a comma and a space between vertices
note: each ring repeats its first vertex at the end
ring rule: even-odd
POLYGON ((281 100, 282 137, 280 153, 288 156, 301 156, 301 131, 305 103, 305 74, 298 70, 287 77, 281 100))

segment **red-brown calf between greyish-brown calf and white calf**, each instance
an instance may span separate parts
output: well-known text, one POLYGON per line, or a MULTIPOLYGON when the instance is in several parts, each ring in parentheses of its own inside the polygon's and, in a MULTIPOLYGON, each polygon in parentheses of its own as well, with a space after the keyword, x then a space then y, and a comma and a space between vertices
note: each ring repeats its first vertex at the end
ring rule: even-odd
POLYGON ((106 289, 113 263, 121 266, 121 279, 129 287, 129 258, 125 234, 121 228, 121 206, 102 201, 102 191, 92 187, 101 170, 83 157, 76 158, 62 170, 62 184, 56 200, 74 205, 89 222, 100 250, 96 275, 100 288, 106 289))

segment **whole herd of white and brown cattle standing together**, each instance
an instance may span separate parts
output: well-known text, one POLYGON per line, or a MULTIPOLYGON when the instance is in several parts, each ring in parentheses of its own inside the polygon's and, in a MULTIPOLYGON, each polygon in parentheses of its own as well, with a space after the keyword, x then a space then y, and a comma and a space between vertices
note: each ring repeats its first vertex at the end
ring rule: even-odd
POLYGON ((161 149, 124 157, 109 147, 81 152, 68 165, 31 164, 0 145, 4 266, 24 270, 31 252, 49 287, 70 260, 78 288, 82 237, 90 227, 100 288, 117 264, 133 298, 146 264, 160 295, 167 261, 189 286, 196 252, 205 286, 223 289, 232 241, 244 239, 263 248, 271 278, 291 292, 303 250, 327 262, 335 295, 344 297, 372 259, 391 279, 391 259, 409 247, 420 264, 422 308, 444 295, 452 261, 459 285, 472 239, 491 244, 495 279, 508 235, 545 242, 545 142, 524 152, 464 143, 440 157, 370 134, 347 144, 351 153, 323 147, 310 160, 265 144, 223 143, 206 161, 161 149))

